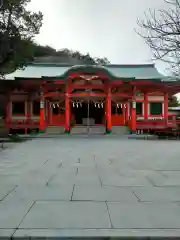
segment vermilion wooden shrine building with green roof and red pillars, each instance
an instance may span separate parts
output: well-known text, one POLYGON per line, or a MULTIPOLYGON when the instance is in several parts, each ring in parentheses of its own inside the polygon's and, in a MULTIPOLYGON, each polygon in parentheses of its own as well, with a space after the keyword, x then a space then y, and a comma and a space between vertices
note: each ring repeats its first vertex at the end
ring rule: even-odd
POLYGON ((128 126, 131 132, 166 131, 178 122, 168 114, 168 99, 180 81, 161 75, 153 64, 72 66, 29 64, 0 81, 8 130, 51 126, 71 133, 76 126, 128 126))

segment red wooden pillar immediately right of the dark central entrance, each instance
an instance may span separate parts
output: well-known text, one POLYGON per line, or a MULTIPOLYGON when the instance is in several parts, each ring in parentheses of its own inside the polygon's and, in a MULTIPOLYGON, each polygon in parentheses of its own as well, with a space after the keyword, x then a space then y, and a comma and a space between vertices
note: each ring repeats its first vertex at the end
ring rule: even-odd
POLYGON ((112 132, 111 104, 112 104, 112 96, 111 96, 111 88, 109 87, 107 98, 106 98, 106 119, 107 119, 106 132, 107 133, 112 132))

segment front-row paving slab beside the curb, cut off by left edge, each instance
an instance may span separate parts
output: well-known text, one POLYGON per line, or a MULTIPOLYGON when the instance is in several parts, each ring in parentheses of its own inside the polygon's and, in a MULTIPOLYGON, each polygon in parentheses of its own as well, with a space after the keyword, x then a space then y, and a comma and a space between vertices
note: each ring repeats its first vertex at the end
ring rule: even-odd
POLYGON ((32 204, 32 201, 0 202, 0 228, 17 228, 32 204))

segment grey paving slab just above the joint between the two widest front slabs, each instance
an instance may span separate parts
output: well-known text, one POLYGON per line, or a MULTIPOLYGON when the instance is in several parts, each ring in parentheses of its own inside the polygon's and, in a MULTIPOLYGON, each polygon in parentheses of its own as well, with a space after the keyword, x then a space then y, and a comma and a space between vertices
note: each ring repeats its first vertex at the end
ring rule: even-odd
POLYGON ((137 201, 130 188, 123 187, 98 187, 75 186, 73 200, 86 201, 137 201))

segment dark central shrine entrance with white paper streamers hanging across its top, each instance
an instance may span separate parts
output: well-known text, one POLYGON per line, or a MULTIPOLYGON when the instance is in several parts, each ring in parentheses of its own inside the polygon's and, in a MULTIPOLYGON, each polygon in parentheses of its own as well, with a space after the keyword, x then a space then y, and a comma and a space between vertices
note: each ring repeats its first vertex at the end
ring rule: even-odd
POLYGON ((73 101, 72 114, 74 125, 97 126, 105 125, 103 101, 73 101))

